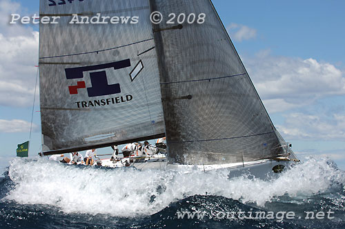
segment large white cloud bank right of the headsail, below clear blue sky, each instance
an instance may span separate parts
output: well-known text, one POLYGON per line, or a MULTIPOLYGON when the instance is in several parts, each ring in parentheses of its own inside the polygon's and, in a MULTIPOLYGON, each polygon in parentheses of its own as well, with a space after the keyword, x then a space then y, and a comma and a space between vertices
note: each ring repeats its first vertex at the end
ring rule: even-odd
POLYGON ((330 95, 345 94, 342 70, 315 59, 273 57, 268 50, 244 59, 268 112, 312 104, 330 95))

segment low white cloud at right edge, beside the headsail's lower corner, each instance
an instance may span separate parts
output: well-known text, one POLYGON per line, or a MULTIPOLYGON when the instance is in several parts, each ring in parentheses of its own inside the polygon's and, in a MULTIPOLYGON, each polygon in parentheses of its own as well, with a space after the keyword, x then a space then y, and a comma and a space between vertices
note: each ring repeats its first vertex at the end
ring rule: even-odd
POLYGON ((283 126, 277 126, 286 139, 345 141, 345 115, 284 115, 283 126))

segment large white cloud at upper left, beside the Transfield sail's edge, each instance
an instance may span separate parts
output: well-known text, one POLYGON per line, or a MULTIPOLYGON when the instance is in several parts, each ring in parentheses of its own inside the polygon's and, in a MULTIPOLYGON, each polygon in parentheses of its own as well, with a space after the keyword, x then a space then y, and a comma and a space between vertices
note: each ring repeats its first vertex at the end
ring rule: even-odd
POLYGON ((0 105, 32 106, 38 62, 39 33, 10 25, 10 14, 21 13, 19 3, 0 0, 0 105))

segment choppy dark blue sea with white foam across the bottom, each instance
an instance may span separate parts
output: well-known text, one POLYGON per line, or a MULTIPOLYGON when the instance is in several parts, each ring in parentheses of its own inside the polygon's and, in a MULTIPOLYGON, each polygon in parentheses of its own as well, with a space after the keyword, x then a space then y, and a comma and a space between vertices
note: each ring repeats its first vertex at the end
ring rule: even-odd
POLYGON ((345 172, 328 159, 309 158, 266 180, 43 159, 14 159, 4 175, 1 229, 345 228, 345 172))

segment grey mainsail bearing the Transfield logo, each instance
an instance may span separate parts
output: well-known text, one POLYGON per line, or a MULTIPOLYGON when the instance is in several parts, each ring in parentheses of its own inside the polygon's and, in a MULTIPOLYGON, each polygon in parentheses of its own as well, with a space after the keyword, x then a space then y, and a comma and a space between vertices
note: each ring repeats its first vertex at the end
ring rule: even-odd
POLYGON ((164 135, 149 3, 102 0, 50 4, 40 1, 40 17, 60 19, 57 24, 40 26, 43 151, 164 135), (97 13, 119 17, 119 23, 70 23, 73 14, 81 21, 81 16, 91 19, 97 13), (121 23, 121 17, 130 19, 121 23), (138 17, 137 23, 132 17, 138 17))

